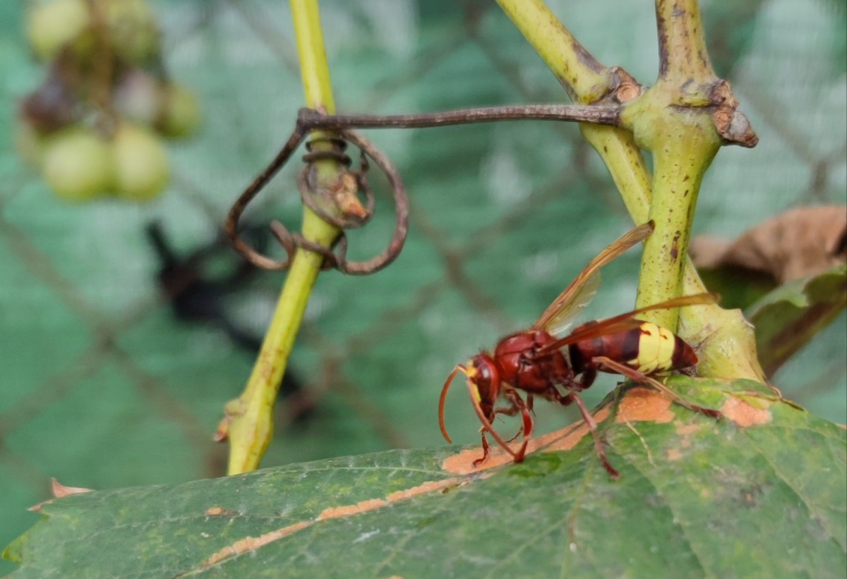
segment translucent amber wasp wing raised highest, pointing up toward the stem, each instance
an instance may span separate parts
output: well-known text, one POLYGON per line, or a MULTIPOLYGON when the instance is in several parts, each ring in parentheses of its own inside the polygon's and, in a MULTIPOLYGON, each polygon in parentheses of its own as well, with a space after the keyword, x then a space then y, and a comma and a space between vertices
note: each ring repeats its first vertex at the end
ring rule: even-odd
POLYGON ((558 334, 567 329, 573 323, 573 319, 584 310, 585 306, 588 306, 597 293, 597 288, 600 287, 600 268, 639 241, 645 240, 652 231, 652 222, 643 223, 613 241, 579 272, 573 282, 535 321, 532 329, 545 329, 551 334, 558 334))

